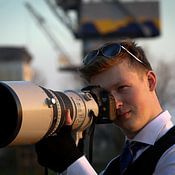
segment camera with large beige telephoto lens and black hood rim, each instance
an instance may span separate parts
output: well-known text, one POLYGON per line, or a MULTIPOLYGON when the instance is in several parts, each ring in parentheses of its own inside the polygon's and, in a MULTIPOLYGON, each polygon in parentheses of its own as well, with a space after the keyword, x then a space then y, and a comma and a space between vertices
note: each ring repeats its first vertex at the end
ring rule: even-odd
POLYGON ((115 99, 99 86, 53 91, 28 81, 0 82, 0 147, 34 144, 58 133, 70 110, 72 130, 113 122, 115 99))

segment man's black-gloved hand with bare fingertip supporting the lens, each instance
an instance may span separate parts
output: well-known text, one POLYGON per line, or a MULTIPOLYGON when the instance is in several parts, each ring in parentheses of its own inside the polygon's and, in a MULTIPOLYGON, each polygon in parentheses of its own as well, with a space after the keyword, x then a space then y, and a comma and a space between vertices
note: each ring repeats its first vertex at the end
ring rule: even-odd
POLYGON ((55 172, 63 172, 83 156, 72 137, 72 119, 69 110, 66 111, 66 114, 65 125, 57 135, 44 138, 35 145, 39 164, 55 172))

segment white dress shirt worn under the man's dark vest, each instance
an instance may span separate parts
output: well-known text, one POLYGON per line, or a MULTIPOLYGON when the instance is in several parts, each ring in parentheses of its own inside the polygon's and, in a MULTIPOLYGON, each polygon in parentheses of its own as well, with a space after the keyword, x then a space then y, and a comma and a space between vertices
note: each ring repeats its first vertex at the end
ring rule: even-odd
MULTIPOLYGON (((148 123, 132 141, 144 142, 149 145, 154 143, 163 136, 171 127, 171 115, 168 111, 162 112, 158 117, 148 123)), ((147 149, 138 151, 135 159, 147 149)), ((145 164, 146 168, 146 164, 145 164)), ((171 146, 159 159, 153 175, 173 175, 175 174, 175 145, 171 146)), ((67 168, 63 175, 97 175, 86 157, 83 156, 67 168)))

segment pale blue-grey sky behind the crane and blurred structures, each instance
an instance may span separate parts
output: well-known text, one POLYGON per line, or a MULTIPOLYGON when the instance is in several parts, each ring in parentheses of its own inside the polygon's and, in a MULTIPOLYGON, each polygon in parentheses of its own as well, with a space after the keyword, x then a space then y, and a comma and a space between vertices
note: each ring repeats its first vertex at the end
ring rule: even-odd
MULTIPOLYGON (((78 88, 81 83, 75 80, 75 75, 58 70, 60 51, 53 47, 41 26, 25 7, 25 2, 29 2, 45 18, 48 29, 64 47, 71 61, 74 64, 80 63, 82 42, 75 39, 54 16, 45 0, 0 0, 0 46, 26 47, 33 57, 31 66, 46 80, 45 87, 53 90, 78 88)), ((155 60, 175 59, 174 7, 174 0, 160 0, 161 36, 137 40, 155 60)))

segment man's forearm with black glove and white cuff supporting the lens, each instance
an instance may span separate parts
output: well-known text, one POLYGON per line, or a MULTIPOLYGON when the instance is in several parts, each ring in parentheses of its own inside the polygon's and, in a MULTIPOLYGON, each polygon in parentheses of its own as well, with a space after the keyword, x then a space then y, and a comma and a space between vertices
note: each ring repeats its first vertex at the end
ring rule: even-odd
POLYGON ((67 111, 65 125, 59 132, 36 143, 38 162, 59 173, 67 170, 67 174, 71 175, 96 175, 95 170, 75 144, 71 124, 70 113, 67 111))

